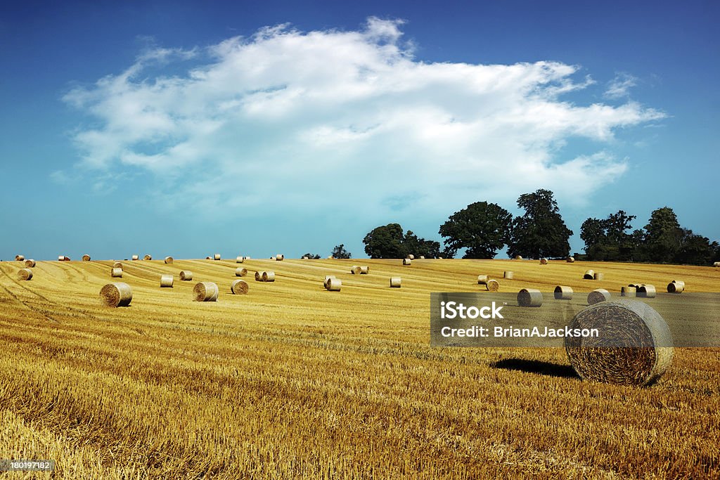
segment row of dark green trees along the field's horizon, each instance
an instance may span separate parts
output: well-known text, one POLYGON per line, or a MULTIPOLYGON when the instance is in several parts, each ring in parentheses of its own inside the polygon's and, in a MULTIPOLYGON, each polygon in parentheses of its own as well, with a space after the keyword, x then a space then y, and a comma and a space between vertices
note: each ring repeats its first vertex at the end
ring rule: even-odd
MULTIPOLYGON (((476 201, 451 214, 438 230, 444 238, 442 250, 439 242, 420 238, 412 230, 404 232, 398 223, 375 227, 363 239, 365 253, 370 258, 405 258, 411 253, 426 258, 454 258, 464 248, 462 258, 487 259, 495 258, 499 250, 507 247, 509 258, 570 255, 573 232, 565 225, 552 191, 538 189, 522 194, 517 204, 524 213, 514 218, 500 205, 487 201, 476 201)), ((623 210, 606 219, 586 219, 580 227, 585 255, 580 256, 592 261, 691 265, 720 260, 720 244, 681 227, 670 207, 654 210, 644 229, 631 231, 634 219, 623 210)))

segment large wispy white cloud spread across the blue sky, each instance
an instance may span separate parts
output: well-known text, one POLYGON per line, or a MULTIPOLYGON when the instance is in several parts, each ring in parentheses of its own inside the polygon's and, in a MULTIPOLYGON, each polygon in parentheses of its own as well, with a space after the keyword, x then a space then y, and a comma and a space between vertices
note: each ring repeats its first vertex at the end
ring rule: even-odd
POLYGON ((283 24, 202 50, 145 51, 64 97, 89 117, 73 136, 78 168, 148 171, 165 209, 447 214, 539 187, 586 198, 626 160, 604 144, 567 158, 564 142, 611 143, 618 128, 664 117, 634 102, 565 101, 593 84, 575 78, 577 65, 417 60, 401 27, 283 24), (150 74, 158 62, 173 73, 150 74))

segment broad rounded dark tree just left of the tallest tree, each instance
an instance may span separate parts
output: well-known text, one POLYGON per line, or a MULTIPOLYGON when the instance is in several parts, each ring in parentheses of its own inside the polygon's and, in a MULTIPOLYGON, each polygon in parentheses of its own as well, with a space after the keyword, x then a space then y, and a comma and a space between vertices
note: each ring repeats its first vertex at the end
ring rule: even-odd
POLYGON ((513 215, 500 205, 476 201, 452 214, 439 233, 451 257, 466 248, 463 258, 495 258, 510 240, 512 223, 513 215))

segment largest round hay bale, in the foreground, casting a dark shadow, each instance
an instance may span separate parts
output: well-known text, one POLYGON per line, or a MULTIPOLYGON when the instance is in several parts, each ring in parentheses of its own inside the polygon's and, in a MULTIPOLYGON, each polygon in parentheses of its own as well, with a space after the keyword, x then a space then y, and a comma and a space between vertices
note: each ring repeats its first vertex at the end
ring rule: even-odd
POLYGON ((660 314, 643 302, 592 305, 578 312, 569 327, 601 332, 598 338, 565 337, 567 357, 583 380, 647 386, 660 379, 672 363, 670 329, 660 314))

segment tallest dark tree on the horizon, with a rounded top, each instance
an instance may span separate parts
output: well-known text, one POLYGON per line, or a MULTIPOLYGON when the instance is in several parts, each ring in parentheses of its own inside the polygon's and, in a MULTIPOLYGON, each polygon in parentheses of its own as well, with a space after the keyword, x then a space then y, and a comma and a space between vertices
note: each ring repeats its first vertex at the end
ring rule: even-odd
POLYGON ((539 189, 522 194, 518 207, 525 213, 513 220, 508 242, 510 258, 564 257, 570 253, 572 230, 562 221, 552 191, 539 189))

